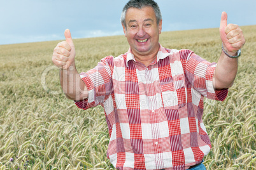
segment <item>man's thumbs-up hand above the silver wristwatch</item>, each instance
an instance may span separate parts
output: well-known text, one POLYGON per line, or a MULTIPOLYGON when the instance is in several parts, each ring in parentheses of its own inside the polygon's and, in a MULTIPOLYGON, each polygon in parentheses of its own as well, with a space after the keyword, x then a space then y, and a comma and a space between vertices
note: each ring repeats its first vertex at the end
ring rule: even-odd
POLYGON ((245 44, 243 31, 238 25, 227 25, 227 13, 225 12, 222 12, 222 18, 220 20, 220 39, 222 39, 225 51, 230 55, 235 55, 245 44))

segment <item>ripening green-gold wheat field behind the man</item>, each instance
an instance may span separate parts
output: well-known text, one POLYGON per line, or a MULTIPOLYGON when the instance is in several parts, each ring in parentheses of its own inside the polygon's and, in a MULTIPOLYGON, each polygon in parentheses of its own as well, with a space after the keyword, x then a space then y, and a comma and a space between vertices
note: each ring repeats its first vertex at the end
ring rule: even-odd
MULTIPOLYGON (((207 169, 256 169, 256 25, 241 27, 246 44, 236 81, 223 102, 204 100, 213 148, 207 169)), ((81 110, 62 93, 52 65, 60 41, 0 46, 0 169, 114 169, 102 107, 81 110)), ((104 56, 129 48, 125 36, 75 39, 76 67, 85 72, 104 56)), ((218 29, 162 32, 166 48, 192 49, 210 62, 221 53, 218 29)))

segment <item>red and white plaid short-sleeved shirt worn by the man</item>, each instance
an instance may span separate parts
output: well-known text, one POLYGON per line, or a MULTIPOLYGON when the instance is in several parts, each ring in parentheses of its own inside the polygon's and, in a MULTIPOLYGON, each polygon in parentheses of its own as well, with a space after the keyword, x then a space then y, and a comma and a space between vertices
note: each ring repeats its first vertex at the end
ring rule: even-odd
POLYGON ((215 66, 188 49, 160 46, 156 60, 145 67, 130 48, 80 74, 89 98, 76 105, 104 107, 107 155, 117 169, 188 169, 211 148, 202 121, 204 97, 227 96, 227 89, 213 88, 215 66))

